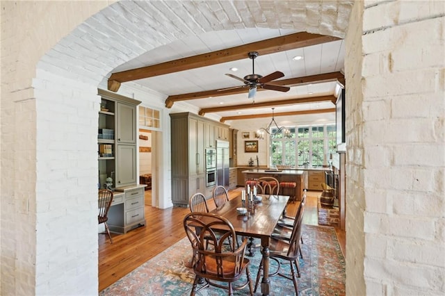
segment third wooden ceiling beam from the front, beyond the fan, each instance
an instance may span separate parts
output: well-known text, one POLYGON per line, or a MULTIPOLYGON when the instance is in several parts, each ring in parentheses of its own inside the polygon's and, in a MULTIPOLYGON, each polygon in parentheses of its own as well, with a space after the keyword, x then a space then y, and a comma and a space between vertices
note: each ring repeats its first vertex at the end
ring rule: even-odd
POLYGON ((213 108, 202 108, 198 114, 204 116, 206 113, 217 113, 217 112, 240 110, 240 109, 264 108, 269 106, 294 105, 302 103, 317 103, 320 101, 332 101, 332 100, 335 101, 336 98, 334 96, 323 96, 323 97, 307 97, 298 99, 285 99, 282 101, 270 100, 255 104, 242 104, 242 105, 221 106, 213 108))

